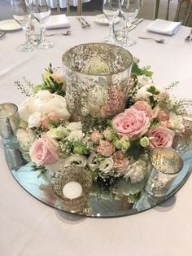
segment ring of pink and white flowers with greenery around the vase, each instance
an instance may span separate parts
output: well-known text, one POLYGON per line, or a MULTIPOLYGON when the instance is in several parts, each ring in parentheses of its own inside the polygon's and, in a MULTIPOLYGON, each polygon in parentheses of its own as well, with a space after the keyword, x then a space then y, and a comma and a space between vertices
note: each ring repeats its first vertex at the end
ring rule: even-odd
POLYGON ((52 174, 61 166, 77 165, 88 168, 96 183, 142 182, 150 171, 151 149, 174 148, 185 135, 183 106, 191 104, 169 95, 175 83, 166 89, 156 86, 152 74, 134 63, 124 112, 89 130, 81 121, 70 121, 65 78, 51 64, 41 85, 28 82, 32 95, 15 82, 29 96, 20 105, 17 130, 24 157, 52 174))

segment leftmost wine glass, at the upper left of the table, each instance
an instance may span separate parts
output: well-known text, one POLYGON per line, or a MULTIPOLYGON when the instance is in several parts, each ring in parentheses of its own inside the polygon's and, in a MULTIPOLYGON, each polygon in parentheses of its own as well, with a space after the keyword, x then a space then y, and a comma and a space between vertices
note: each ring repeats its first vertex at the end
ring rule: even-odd
POLYGON ((20 46, 20 51, 33 51, 34 47, 29 42, 28 38, 28 24, 31 19, 31 11, 28 3, 25 0, 11 0, 11 7, 13 12, 13 18, 20 24, 25 33, 25 43, 20 46))

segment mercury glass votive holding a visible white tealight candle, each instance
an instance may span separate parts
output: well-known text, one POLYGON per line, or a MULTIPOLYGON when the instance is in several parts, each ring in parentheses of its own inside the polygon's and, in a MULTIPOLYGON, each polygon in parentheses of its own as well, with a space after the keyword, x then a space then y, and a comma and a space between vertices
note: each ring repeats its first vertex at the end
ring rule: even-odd
POLYGON ((68 212, 83 212, 92 186, 89 170, 80 166, 63 167, 52 179, 52 189, 68 212))

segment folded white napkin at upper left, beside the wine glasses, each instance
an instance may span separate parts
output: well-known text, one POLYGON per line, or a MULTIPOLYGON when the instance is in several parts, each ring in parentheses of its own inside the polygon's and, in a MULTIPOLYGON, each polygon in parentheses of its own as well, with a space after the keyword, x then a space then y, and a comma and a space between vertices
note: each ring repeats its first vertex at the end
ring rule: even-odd
POLYGON ((70 27, 70 23, 65 14, 51 15, 46 23, 46 29, 59 29, 70 27))

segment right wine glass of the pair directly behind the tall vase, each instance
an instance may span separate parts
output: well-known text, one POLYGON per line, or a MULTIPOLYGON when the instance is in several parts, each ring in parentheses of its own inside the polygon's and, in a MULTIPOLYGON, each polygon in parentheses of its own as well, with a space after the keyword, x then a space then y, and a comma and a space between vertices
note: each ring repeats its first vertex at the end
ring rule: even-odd
POLYGON ((124 18, 125 27, 125 38, 124 46, 133 46, 136 41, 129 39, 129 28, 133 20, 137 17, 138 11, 141 7, 141 0, 120 0, 120 13, 124 18))

